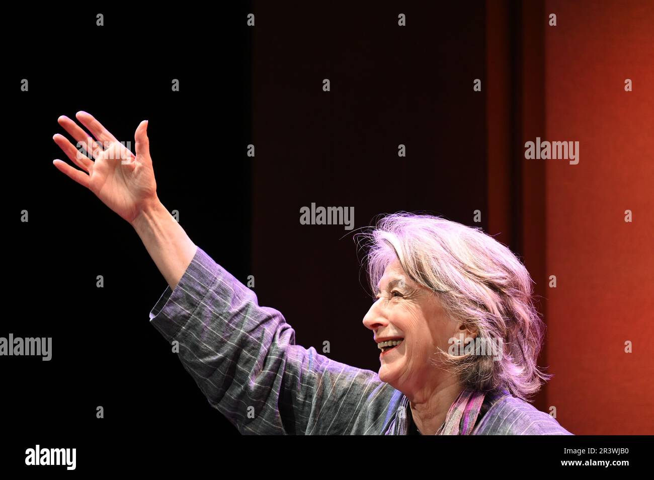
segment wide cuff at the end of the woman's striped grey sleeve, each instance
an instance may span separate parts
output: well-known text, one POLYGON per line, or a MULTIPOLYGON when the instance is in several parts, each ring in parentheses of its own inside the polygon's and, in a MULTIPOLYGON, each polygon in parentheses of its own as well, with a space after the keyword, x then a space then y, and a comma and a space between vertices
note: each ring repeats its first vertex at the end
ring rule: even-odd
POLYGON ((150 311, 150 324, 165 337, 168 343, 193 317, 200 301, 209 288, 218 281, 220 267, 200 247, 184 271, 175 290, 166 286, 165 291, 150 311))

